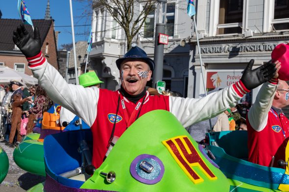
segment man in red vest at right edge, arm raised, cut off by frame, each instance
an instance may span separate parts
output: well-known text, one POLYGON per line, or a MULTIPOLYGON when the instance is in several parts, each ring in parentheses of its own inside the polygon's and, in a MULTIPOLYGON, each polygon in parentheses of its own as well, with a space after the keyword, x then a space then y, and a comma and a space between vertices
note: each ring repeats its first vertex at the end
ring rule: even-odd
POLYGON ((261 87, 247 117, 250 162, 280 168, 278 160, 285 160, 289 137, 289 120, 282 108, 288 105, 286 81, 271 79, 261 87))

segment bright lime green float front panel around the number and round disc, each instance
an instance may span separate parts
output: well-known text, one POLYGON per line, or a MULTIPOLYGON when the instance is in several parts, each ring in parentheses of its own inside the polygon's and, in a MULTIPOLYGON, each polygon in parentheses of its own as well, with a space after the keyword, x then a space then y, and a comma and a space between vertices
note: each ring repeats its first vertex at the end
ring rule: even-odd
POLYGON ((202 155, 198 144, 174 115, 169 111, 154 110, 141 116, 122 134, 106 160, 81 189, 117 192, 229 192, 230 184, 225 175, 202 155), (210 180, 199 167, 193 167, 193 171, 204 180, 193 183, 162 143, 177 136, 191 140, 207 167, 217 176, 216 180, 210 180), (165 171, 158 183, 149 185, 132 177, 130 165, 142 154, 154 155, 162 161, 165 171), (113 183, 108 183, 105 176, 100 175, 100 172, 109 171, 116 173, 113 183))

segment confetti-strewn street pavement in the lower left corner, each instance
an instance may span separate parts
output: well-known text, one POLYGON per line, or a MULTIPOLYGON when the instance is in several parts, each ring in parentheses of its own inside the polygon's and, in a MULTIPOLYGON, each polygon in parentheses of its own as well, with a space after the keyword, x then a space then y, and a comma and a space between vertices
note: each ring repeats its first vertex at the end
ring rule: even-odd
POLYGON ((24 171, 15 164, 13 159, 14 148, 9 148, 4 143, 0 143, 0 147, 5 150, 9 159, 9 171, 0 184, 0 192, 25 192, 34 185, 45 181, 44 176, 24 171))

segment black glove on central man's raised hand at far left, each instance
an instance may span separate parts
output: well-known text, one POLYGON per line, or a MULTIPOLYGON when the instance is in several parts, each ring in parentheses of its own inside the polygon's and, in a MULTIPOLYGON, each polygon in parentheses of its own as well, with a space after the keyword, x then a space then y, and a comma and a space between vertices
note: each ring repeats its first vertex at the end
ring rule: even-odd
POLYGON ((34 57, 41 51, 41 39, 38 27, 34 29, 34 38, 25 29, 24 24, 13 31, 13 42, 26 57, 34 57))

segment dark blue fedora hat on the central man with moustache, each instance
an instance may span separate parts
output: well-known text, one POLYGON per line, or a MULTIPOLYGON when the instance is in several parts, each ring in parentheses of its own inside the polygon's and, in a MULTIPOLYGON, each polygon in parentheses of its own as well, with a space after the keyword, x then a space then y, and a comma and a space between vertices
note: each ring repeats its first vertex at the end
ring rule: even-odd
POLYGON ((132 46, 131 49, 124 54, 123 58, 120 58, 116 61, 118 69, 120 70, 120 64, 125 59, 142 59, 144 60, 150 67, 150 70, 154 69, 154 61, 147 57, 145 51, 138 46, 132 46))

